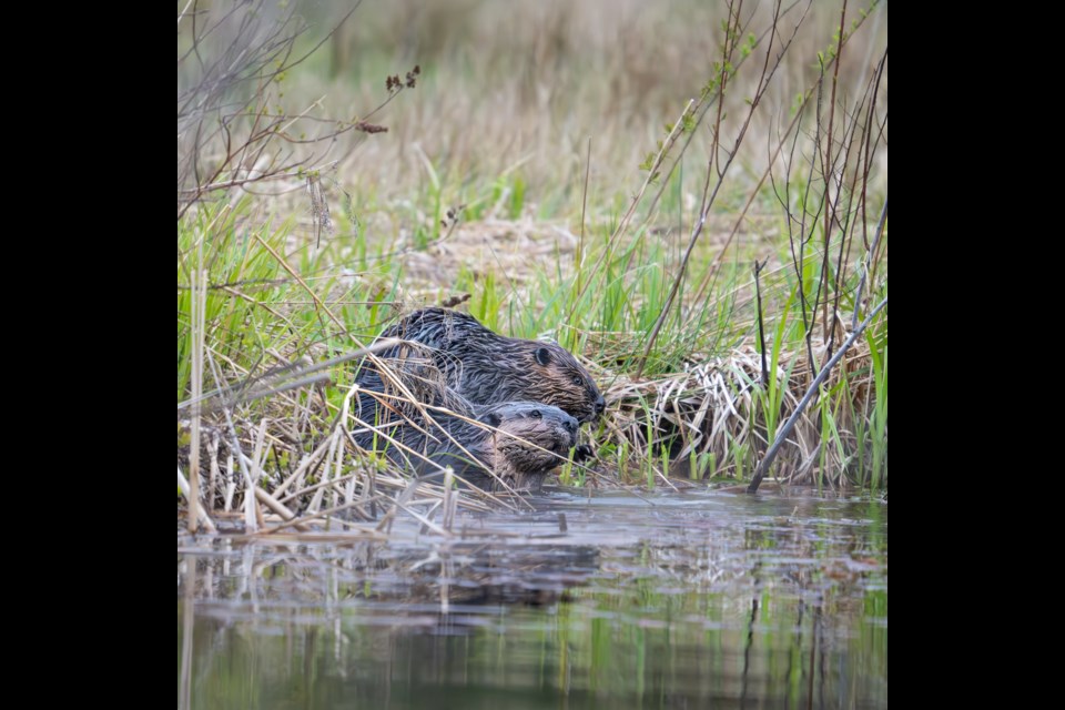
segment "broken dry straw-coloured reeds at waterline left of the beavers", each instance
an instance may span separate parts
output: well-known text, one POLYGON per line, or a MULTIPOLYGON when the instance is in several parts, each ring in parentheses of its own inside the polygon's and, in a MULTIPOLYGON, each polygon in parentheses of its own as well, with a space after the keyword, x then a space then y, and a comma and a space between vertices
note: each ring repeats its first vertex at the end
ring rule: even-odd
MULTIPOLYGON (((420 523, 425 530, 449 535, 458 508, 527 508, 524 499, 514 497, 509 486, 498 478, 501 494, 468 485, 457 488, 453 484, 465 484, 459 476, 397 437, 396 426, 402 423, 437 440, 446 437, 462 446, 436 424, 435 417, 467 418, 465 409, 426 404, 447 403, 450 398, 440 384, 443 375, 429 361, 417 356, 375 358, 385 386, 373 396, 394 413, 388 426, 372 420, 373 413, 359 412, 359 394, 364 390, 358 382, 343 388, 339 406, 324 396, 326 383, 321 377, 329 367, 355 357, 374 357, 375 352, 396 343, 384 339, 325 364, 297 363, 274 368, 254 383, 248 381, 179 406, 179 412, 193 410, 193 418, 179 420, 179 490, 186 500, 195 499, 183 469, 199 466, 197 459, 202 458, 200 470, 205 475, 200 498, 206 503, 197 518, 205 528, 213 531, 213 518, 221 517, 239 519, 251 534, 310 531, 322 525, 326 529, 372 534, 387 531, 394 517, 402 513, 420 523), (197 409, 207 413, 212 424, 199 422, 197 409), (244 416, 234 419, 231 412, 244 416), (365 437, 359 435, 366 432, 373 432, 381 444, 393 447, 407 460, 425 462, 430 473, 439 474, 436 483, 424 480, 425 476, 412 480, 381 454, 364 449, 361 442, 365 437), (201 447, 194 448, 201 437, 201 447), (375 525, 366 525, 368 521, 375 525)), ((496 436, 510 436, 467 420, 496 436)), ((473 458, 468 452, 467 456, 473 458)), ((564 460, 559 458, 559 464, 564 460)), ((495 471, 487 473, 496 477, 495 471)))

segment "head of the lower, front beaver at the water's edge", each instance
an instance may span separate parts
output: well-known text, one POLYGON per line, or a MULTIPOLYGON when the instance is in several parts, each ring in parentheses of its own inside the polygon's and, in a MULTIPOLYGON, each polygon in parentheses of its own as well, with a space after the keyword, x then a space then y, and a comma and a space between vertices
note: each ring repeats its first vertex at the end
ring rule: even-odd
POLYGON ((493 405, 477 419, 499 429, 488 432, 477 448, 496 476, 515 489, 539 489, 547 473, 577 445, 577 419, 539 402, 493 405))

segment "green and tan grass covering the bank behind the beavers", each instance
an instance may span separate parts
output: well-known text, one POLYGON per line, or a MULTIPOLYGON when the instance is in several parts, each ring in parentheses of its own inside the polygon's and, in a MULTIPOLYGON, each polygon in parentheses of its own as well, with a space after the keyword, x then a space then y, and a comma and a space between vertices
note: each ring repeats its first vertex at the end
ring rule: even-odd
MULTIPOLYGON (((555 337, 607 394, 595 470, 566 468, 568 485, 749 479, 850 331, 862 274, 860 314, 886 298, 886 8, 841 20, 819 4, 785 44, 805 6, 772 36, 764 7, 730 23, 692 1, 600 6, 359 8, 277 79, 285 102, 349 116, 381 103, 385 74, 424 68, 375 115, 388 132, 343 134, 314 173, 332 225, 302 189, 310 173, 267 195, 212 193, 179 219, 178 399, 192 392, 203 268, 203 388, 226 393, 207 415, 230 440, 230 412, 265 489, 307 460, 293 486, 345 481, 333 507, 368 511, 385 505, 374 491, 400 489, 344 442, 351 364, 312 364, 450 298, 499 332, 555 337), (755 261, 768 262, 764 382, 755 261), (284 389, 301 377, 317 381, 284 389)), ((780 478, 886 487, 886 313, 789 434, 780 478)))

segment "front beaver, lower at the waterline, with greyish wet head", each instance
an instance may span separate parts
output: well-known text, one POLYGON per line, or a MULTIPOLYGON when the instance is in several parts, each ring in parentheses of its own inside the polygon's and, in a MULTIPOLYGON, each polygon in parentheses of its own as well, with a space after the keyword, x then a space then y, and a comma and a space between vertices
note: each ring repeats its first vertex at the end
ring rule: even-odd
MULTIPOLYGON (((463 416, 434 409, 432 422, 415 415, 387 428, 403 444, 385 447, 389 460, 430 478, 438 476, 437 466, 450 466, 467 484, 486 490, 539 490, 548 471, 577 445, 577 419, 538 402, 460 407, 463 416)), ((356 442, 369 448, 374 433, 358 432, 356 442)))

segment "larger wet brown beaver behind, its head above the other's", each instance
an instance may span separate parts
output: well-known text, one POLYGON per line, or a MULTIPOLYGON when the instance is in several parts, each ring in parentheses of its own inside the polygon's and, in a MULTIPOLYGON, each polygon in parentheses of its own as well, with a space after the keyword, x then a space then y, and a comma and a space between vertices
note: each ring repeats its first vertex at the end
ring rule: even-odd
POLYGON ((594 422, 606 408, 591 375, 561 346, 493 333, 465 313, 445 308, 415 311, 382 333, 382 337, 398 337, 433 348, 435 364, 447 385, 475 405, 542 402, 580 422, 594 422))

